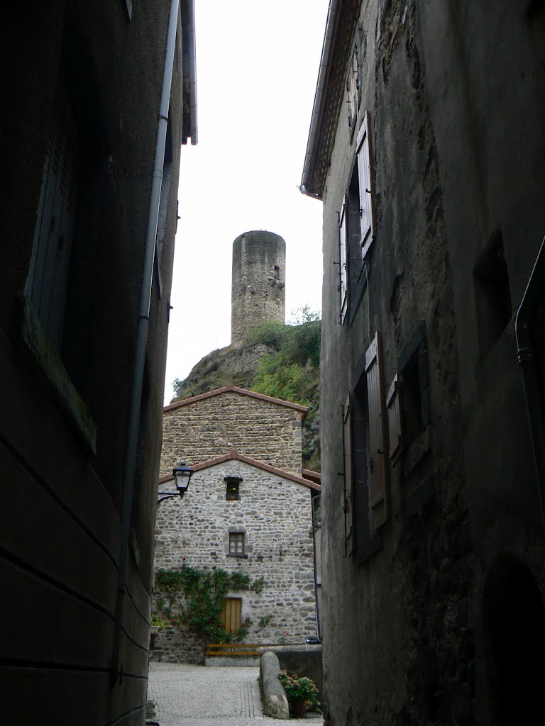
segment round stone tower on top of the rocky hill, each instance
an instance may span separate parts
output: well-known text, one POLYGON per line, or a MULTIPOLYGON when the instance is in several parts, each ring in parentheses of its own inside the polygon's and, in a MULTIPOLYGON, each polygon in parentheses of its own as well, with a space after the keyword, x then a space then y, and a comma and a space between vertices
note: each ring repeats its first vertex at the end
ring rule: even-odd
POLYGON ((286 242, 274 232, 244 232, 233 242, 231 344, 252 325, 286 321, 286 242))

